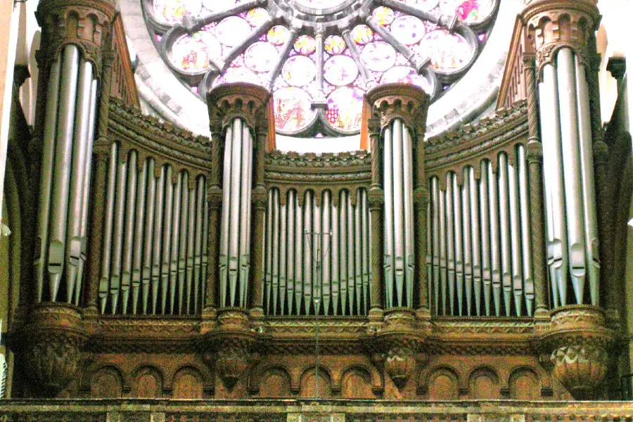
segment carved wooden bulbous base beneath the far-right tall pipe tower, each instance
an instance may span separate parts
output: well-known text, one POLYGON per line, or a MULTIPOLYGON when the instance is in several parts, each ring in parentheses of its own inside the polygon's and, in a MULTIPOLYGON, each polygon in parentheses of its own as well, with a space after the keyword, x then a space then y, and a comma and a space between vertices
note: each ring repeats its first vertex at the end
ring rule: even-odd
POLYGON ((551 324, 542 337, 549 366, 578 400, 599 398, 608 368, 608 352, 615 334, 605 326, 599 307, 573 305, 551 312, 551 324))

